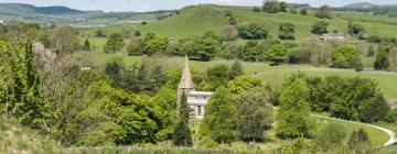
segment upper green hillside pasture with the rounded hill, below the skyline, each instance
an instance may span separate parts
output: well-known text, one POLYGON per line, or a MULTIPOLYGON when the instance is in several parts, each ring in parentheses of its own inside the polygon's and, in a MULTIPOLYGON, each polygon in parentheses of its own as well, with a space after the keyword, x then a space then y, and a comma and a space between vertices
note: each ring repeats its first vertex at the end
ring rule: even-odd
MULTIPOLYGON (((205 31, 222 33, 223 26, 228 24, 225 12, 229 11, 238 23, 259 22, 267 25, 270 30, 270 36, 277 37, 278 26, 281 22, 292 22, 296 26, 297 40, 307 40, 311 36, 311 26, 320 19, 315 18, 314 12, 309 11, 309 15, 291 13, 265 13, 253 12, 250 7, 224 7, 224 6, 194 6, 181 10, 180 14, 167 18, 161 21, 150 22, 147 25, 124 24, 109 26, 108 32, 121 32, 122 29, 140 30, 142 34, 153 32, 170 37, 197 36, 205 31)), ((397 19, 385 15, 372 15, 361 12, 333 12, 334 19, 328 20, 329 31, 337 30, 346 33, 350 20, 362 23, 367 34, 382 36, 397 36, 397 19)), ((82 30, 85 35, 94 35, 96 30, 82 30)))

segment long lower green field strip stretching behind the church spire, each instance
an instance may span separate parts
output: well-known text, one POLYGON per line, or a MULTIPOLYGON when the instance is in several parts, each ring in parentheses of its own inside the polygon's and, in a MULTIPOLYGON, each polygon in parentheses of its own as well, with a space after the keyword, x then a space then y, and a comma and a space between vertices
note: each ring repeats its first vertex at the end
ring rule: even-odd
MULTIPOLYGON (((140 63, 142 57, 127 56, 124 53, 117 54, 105 54, 99 52, 84 53, 84 55, 92 61, 94 65, 101 65, 111 58, 121 58, 127 66, 133 63, 140 63)), ((168 68, 179 68, 183 65, 183 59, 178 57, 144 57, 147 61, 159 63, 167 66, 168 68)), ((192 69, 200 72, 206 70, 208 67, 215 64, 230 64, 232 61, 215 59, 211 62, 191 62, 192 69)), ((281 66, 269 66, 268 63, 243 63, 246 75, 253 75, 268 81, 272 85, 280 85, 282 80, 296 73, 304 73, 310 76, 328 76, 328 75, 341 75, 341 76, 361 76, 365 78, 375 79, 380 87, 380 90, 385 94, 388 99, 397 98, 397 74, 385 73, 385 72, 362 72, 356 73, 347 69, 331 69, 328 67, 313 67, 309 65, 281 65, 281 66)))

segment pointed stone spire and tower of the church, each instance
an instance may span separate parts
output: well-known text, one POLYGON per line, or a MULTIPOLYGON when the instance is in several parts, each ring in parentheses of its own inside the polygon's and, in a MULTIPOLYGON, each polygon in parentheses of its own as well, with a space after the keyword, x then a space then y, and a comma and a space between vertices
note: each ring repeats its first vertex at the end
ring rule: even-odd
POLYGON ((190 94, 192 90, 194 90, 194 82, 192 79, 192 74, 190 72, 190 67, 189 67, 189 58, 185 55, 185 59, 184 59, 184 67, 183 67, 183 72, 182 72, 182 77, 181 77, 181 81, 178 86, 178 106, 181 101, 181 97, 182 94, 185 92, 185 95, 190 94))

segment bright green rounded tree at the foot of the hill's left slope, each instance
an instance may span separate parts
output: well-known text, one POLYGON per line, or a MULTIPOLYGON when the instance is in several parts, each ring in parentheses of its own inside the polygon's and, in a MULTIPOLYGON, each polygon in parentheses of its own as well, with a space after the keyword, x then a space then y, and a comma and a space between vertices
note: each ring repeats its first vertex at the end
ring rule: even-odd
POLYGON ((162 35, 148 33, 143 40, 143 54, 152 55, 155 53, 165 53, 169 38, 162 35))

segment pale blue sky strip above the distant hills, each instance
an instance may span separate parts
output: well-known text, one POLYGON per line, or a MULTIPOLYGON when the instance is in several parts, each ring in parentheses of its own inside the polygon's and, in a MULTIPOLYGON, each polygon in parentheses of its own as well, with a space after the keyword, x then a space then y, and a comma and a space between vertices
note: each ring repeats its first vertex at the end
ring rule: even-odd
MULTIPOLYGON (((294 3, 310 3, 312 6, 330 4, 345 6, 354 2, 372 2, 376 4, 397 3, 397 0, 283 0, 294 3)), ((216 3, 233 6, 259 6, 262 0, 0 0, 0 3, 30 3, 35 6, 65 6, 79 10, 104 11, 152 11, 179 9, 189 4, 216 3)))

